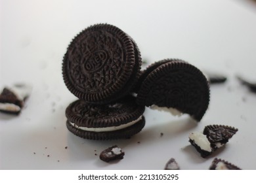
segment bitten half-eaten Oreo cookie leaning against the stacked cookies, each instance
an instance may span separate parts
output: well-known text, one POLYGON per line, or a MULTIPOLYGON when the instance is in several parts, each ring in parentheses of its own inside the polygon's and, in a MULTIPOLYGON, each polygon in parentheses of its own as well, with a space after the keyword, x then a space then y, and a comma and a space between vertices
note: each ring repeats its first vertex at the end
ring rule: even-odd
POLYGON ((181 59, 150 65, 137 84, 137 103, 200 122, 209 105, 209 83, 203 73, 181 59))

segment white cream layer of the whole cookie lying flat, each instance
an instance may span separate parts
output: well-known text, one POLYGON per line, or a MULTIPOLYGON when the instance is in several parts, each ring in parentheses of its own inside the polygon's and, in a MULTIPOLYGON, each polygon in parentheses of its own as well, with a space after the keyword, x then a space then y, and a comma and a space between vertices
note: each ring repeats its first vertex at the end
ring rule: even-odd
POLYGON ((83 126, 77 126, 76 124, 74 124, 72 122, 70 122, 70 124, 72 126, 74 126, 75 128, 81 129, 83 131, 105 132, 105 131, 116 131, 119 129, 124 129, 126 127, 136 124, 141 119, 142 119, 142 115, 137 120, 133 120, 132 122, 129 122, 127 124, 121 124, 118 126, 110 126, 110 127, 83 127, 83 126))

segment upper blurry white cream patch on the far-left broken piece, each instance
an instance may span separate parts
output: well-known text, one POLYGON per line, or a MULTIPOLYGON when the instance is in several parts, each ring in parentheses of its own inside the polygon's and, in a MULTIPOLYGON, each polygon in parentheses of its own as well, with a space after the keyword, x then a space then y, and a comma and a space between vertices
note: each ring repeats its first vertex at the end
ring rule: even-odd
POLYGON ((32 92, 32 86, 28 84, 20 84, 20 85, 16 84, 12 87, 7 87, 7 89, 13 92, 14 95, 16 95, 16 97, 20 101, 23 101, 32 92))

